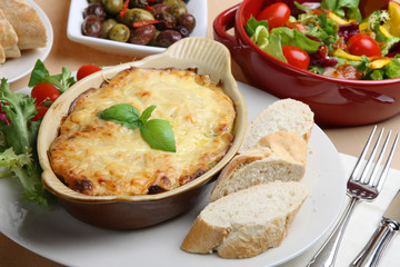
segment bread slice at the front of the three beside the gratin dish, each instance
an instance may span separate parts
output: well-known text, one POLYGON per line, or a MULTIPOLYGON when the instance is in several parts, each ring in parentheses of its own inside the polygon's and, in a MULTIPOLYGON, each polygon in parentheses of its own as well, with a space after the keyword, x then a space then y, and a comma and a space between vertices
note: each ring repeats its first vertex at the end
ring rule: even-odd
POLYGON ((199 254, 216 250, 223 258, 259 255, 282 243, 308 195, 308 187, 297 181, 232 192, 200 212, 181 248, 199 254))

